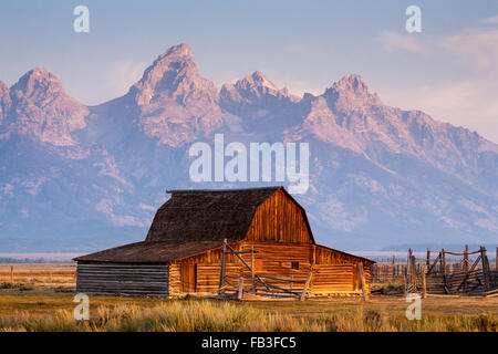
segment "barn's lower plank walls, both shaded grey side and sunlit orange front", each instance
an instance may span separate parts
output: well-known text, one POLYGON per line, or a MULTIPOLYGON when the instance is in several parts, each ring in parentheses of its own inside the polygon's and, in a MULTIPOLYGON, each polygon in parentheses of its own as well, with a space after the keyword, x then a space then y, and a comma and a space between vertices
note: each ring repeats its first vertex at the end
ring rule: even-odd
MULTIPOLYGON (((257 273, 304 281, 312 272, 311 294, 361 293, 356 264, 361 259, 315 244, 242 241, 236 251, 255 250, 257 273)), ((250 254, 241 256, 250 264, 250 254)), ((371 264, 364 262, 370 292, 371 264)), ((187 292, 215 293, 221 268, 221 248, 166 264, 85 264, 77 266, 77 291, 93 294, 181 295, 187 292), (188 272, 188 275, 185 273, 188 272), (188 281, 186 281, 188 280, 188 281)), ((226 256, 226 273, 250 277, 250 270, 234 254, 226 256)), ((237 280, 229 280, 237 282, 237 280)), ((280 281, 267 280, 282 285, 280 281)), ((245 289, 251 287, 245 283, 245 289)))

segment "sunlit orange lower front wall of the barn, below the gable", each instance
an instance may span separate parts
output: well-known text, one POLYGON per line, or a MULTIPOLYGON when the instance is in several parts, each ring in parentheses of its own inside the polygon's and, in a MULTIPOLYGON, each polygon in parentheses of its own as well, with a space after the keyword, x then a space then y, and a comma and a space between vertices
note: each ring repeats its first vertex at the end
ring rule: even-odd
MULTIPOLYGON (((370 292, 371 266, 354 256, 345 254, 315 244, 297 244, 282 242, 255 242, 242 241, 231 244, 237 251, 255 250, 253 262, 257 274, 304 281, 308 273, 312 272, 310 294, 326 295, 336 293, 360 294, 361 283, 357 273, 357 263, 364 263, 365 283, 370 292)), ((250 254, 241 256, 246 263, 251 264, 250 254)), ((221 249, 211 250, 201 254, 177 260, 170 264, 169 289, 172 295, 185 293, 185 284, 181 284, 183 264, 196 266, 195 292, 211 292, 218 290, 219 272, 221 268, 221 249)), ((245 267, 236 256, 228 256, 226 273, 235 277, 250 277, 250 270, 245 267)), ((229 280, 234 284, 236 279, 229 280)), ((289 287, 289 283, 266 279, 276 285, 289 287)), ((249 290, 252 284, 245 281, 243 288, 249 290)))

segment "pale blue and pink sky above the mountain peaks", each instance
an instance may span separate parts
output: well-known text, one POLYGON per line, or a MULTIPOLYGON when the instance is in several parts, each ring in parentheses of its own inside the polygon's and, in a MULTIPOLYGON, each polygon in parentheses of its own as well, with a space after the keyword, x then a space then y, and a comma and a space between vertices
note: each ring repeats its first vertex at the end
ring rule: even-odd
POLYGON ((357 73, 381 100, 498 143, 498 1, 2 0, 0 80, 45 67, 87 105, 123 95, 167 48, 187 43, 220 87, 256 70, 321 94, 357 73), (76 33, 76 6, 90 32, 76 33), (422 31, 408 33, 408 6, 422 31))

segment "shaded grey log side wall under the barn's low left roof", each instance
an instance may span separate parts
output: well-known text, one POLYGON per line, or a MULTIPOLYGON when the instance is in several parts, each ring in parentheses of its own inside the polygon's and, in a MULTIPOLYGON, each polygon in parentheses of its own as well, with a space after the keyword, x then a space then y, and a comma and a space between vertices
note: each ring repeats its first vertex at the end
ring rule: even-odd
POLYGON ((168 295, 167 264, 77 264, 76 292, 112 295, 168 295))

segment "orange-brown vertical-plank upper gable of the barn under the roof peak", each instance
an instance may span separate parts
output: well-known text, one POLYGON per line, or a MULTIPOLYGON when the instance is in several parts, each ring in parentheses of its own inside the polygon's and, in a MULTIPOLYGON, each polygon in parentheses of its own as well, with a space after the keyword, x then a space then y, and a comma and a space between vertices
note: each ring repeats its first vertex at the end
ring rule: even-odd
POLYGON ((312 243, 302 210, 281 190, 258 207, 246 240, 312 243))

